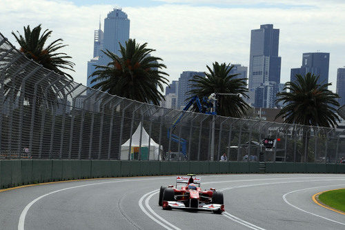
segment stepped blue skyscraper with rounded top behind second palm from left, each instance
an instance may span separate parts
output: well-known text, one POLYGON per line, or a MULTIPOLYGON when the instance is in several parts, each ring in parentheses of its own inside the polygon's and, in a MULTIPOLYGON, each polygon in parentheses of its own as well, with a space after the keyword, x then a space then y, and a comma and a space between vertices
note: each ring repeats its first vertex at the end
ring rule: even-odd
MULTIPOLYGON (((126 41, 129 39, 130 20, 127 14, 121 9, 115 8, 109 12, 106 19, 104 19, 104 32, 95 32, 94 41, 94 56, 88 61, 88 76, 95 72, 95 65, 106 66, 110 59, 103 54, 100 50, 109 50, 116 55, 121 56, 120 46, 125 46, 126 41), (102 41, 99 43, 99 41, 102 41)), ((92 77, 93 78, 93 77, 92 77)), ((97 82, 91 84, 91 77, 88 77, 88 87, 94 86, 97 82)))

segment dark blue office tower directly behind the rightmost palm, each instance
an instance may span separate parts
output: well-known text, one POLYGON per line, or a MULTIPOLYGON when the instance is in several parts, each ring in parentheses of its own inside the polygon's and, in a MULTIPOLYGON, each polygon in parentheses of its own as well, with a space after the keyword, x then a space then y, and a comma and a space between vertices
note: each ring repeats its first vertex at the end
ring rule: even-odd
POLYGON ((329 52, 306 52, 302 55, 301 68, 292 68, 290 72, 290 82, 295 82, 295 75, 306 75, 312 73, 319 75, 318 83, 328 83, 329 52))

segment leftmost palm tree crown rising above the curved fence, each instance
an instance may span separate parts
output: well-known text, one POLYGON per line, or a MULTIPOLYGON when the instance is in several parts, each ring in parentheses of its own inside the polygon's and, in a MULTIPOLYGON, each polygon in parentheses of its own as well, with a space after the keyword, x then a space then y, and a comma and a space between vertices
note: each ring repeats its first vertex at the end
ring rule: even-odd
POLYGON ((12 32, 12 35, 17 39, 19 46, 21 46, 20 51, 23 52, 26 57, 36 61, 48 70, 53 70, 59 75, 72 79, 71 75, 63 72, 63 70, 74 71, 73 66, 75 66, 75 64, 67 60, 72 57, 64 52, 57 52, 57 50, 68 45, 63 45, 61 43, 63 40, 57 39, 45 47, 48 38, 52 34, 52 30, 44 30, 43 34, 41 34, 40 24, 32 30, 30 30, 30 26, 24 26, 24 37, 18 31, 17 33, 18 36, 14 32, 12 32))

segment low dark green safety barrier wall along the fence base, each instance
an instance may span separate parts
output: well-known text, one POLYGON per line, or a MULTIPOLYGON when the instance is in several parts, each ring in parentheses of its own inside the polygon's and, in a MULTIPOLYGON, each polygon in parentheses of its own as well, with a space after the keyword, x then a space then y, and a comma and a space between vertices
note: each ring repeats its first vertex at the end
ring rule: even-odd
MULTIPOLYGON (((259 173, 258 162, 159 162, 117 160, 0 160, 0 189, 86 178, 186 173, 259 173)), ((345 164, 266 163, 266 173, 345 173, 345 164)))

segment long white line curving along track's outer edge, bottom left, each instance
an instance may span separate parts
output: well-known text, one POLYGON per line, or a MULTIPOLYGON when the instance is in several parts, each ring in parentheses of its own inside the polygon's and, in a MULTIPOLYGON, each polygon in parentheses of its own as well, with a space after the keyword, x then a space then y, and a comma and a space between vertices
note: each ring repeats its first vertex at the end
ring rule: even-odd
POLYGON ((116 180, 116 181, 108 181, 108 182, 100 182, 100 183, 93 183, 93 184, 83 184, 83 185, 79 185, 79 186, 72 186, 72 187, 68 187, 65 189, 59 189, 56 191, 52 191, 50 193, 46 193, 44 195, 41 195, 40 197, 32 200, 32 202, 30 202, 28 205, 26 205, 26 207, 23 209, 23 211, 21 211, 21 215, 19 217, 19 222, 18 222, 18 230, 24 230, 24 223, 25 223, 25 218, 26 218, 26 214, 28 213, 30 207, 32 207, 32 205, 34 203, 36 203, 38 200, 41 200, 41 198, 46 197, 47 195, 53 194, 53 193, 58 193, 60 191, 65 191, 68 189, 77 189, 77 188, 81 188, 84 186, 92 186, 92 185, 98 185, 98 184, 110 184, 110 183, 117 183, 117 182, 135 182, 135 181, 143 181, 143 180, 155 180, 155 179, 139 179, 139 180, 116 180))

